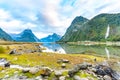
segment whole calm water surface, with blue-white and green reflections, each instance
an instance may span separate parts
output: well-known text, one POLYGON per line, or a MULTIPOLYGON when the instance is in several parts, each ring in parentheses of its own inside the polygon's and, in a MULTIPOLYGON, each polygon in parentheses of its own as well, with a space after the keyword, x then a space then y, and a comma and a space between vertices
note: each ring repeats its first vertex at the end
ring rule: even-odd
POLYGON ((72 44, 56 44, 56 43, 44 43, 48 48, 47 52, 58 52, 66 54, 89 54, 95 56, 105 57, 106 61, 114 58, 116 61, 111 67, 120 72, 120 47, 117 46, 105 46, 105 45, 72 45, 72 44))

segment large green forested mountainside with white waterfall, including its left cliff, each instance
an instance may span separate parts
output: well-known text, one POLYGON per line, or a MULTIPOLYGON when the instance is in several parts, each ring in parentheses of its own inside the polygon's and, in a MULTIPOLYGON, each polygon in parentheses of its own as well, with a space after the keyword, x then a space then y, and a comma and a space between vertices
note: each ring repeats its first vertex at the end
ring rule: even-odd
POLYGON ((61 41, 120 41, 120 13, 99 14, 91 20, 79 22, 71 23, 61 41))

